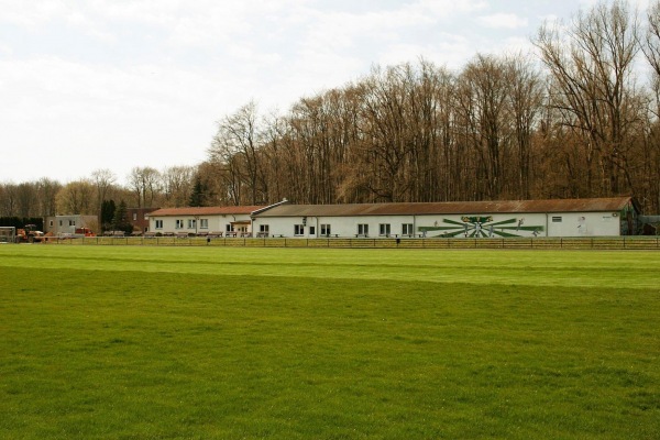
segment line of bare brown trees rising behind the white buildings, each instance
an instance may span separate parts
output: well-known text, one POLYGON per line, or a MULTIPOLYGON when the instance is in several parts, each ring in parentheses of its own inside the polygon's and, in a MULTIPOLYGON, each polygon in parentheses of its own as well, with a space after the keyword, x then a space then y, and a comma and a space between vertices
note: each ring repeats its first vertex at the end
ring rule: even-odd
POLYGON ((0 216, 131 206, 584 198, 632 195, 660 212, 660 1, 600 2, 543 24, 538 57, 476 54, 458 72, 419 59, 218 121, 207 161, 125 185, 108 170, 0 185, 0 216), (649 77, 640 77, 648 69, 649 77), (9 198, 8 198, 9 195, 9 198))

